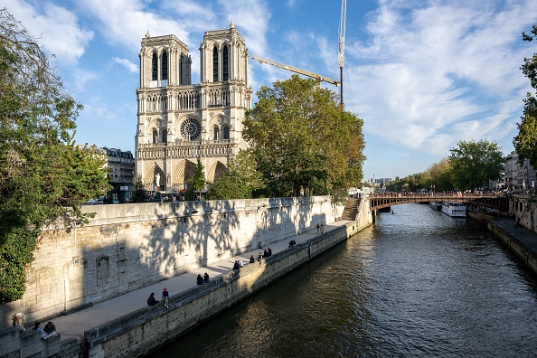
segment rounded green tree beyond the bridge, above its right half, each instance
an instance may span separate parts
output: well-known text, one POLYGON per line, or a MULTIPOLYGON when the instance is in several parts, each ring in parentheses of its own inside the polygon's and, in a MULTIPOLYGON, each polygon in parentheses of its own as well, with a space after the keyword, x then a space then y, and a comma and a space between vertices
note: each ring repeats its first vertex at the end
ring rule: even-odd
POLYGON ((497 143, 461 140, 450 152, 449 165, 458 190, 485 187, 489 180, 500 178, 505 160, 497 143))

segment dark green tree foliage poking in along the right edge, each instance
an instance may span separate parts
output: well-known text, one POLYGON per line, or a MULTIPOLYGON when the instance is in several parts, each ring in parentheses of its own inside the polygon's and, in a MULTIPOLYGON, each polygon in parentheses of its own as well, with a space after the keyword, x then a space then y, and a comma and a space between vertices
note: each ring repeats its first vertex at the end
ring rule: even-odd
MULTIPOLYGON (((523 33, 523 41, 532 42, 537 39, 537 26, 533 25, 532 33, 523 33)), ((532 83, 532 88, 537 89, 537 53, 532 58, 524 58, 521 67, 524 76, 532 83)), ((537 94, 537 92, 536 92, 537 94)), ((513 146, 521 163, 525 159, 530 160, 533 167, 537 167, 537 99, 531 93, 526 94, 521 122, 518 124, 518 135, 513 139, 513 146)))

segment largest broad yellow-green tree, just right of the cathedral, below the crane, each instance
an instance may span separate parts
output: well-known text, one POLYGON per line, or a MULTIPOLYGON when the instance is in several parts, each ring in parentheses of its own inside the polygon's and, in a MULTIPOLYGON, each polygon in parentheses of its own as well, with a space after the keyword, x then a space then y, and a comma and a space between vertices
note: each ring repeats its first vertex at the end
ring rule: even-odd
POLYGON ((264 196, 326 194, 362 180, 363 121, 336 95, 294 75, 261 87, 243 137, 256 155, 264 196))

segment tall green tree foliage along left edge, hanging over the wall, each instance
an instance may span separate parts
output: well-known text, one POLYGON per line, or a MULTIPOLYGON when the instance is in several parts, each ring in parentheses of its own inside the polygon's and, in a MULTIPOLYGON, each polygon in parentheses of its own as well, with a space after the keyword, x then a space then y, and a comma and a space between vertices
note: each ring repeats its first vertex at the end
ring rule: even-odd
POLYGON ((33 37, 0 10, 0 301, 24 294, 24 269, 44 225, 88 220, 106 192, 106 158, 73 140, 81 105, 33 37), (26 231, 30 228, 35 230, 26 231))

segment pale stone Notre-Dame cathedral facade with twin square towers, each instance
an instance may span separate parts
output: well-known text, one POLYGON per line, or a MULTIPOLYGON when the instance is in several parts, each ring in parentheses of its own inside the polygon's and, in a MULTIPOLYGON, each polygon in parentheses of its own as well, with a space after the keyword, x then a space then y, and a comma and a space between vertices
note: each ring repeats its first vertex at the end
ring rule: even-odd
POLYGON ((137 177, 148 191, 187 189, 200 159, 212 183, 246 147, 242 120, 251 108, 248 50, 233 22, 200 45, 200 82, 192 84, 188 47, 173 34, 142 39, 137 89, 137 177))

